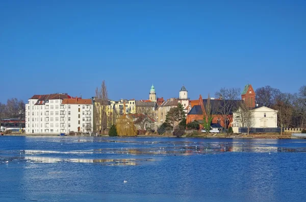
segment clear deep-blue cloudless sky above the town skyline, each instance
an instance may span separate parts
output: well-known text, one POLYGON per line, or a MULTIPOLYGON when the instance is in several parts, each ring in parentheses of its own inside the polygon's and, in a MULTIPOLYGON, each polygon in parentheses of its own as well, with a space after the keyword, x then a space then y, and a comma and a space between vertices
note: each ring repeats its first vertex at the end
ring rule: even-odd
POLYGON ((0 1, 0 102, 306 85, 306 1, 0 1))

